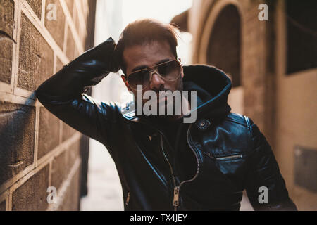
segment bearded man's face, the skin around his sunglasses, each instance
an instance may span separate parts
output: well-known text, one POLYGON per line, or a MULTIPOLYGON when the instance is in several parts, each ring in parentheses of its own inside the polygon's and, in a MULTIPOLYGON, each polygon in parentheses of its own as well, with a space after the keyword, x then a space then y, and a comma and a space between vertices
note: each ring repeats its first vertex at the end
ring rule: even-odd
MULTIPOLYGON (((125 60, 126 75, 129 76, 130 73, 135 70, 149 68, 168 60, 175 60, 175 56, 172 51, 170 51, 170 46, 167 41, 151 41, 149 43, 131 46, 125 49, 123 51, 123 60, 125 60)), ((144 93, 145 91, 153 90, 159 94, 159 91, 182 91, 182 77, 184 77, 182 68, 180 77, 173 81, 166 81, 154 73, 151 82, 149 82, 142 92, 144 93)), ((125 82, 124 76, 122 76, 122 78, 125 82)), ((137 91, 131 89, 128 82, 125 82, 125 85, 135 96, 137 96, 137 91)), ((143 99, 142 103, 144 104, 147 101, 147 99, 143 99)))

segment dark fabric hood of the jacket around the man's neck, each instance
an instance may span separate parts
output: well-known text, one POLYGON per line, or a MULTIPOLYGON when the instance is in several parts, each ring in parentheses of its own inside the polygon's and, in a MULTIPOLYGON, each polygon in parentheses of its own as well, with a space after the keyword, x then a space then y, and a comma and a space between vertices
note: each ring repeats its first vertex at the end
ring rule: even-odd
MULTIPOLYGON (((183 66, 183 90, 197 91, 197 119, 204 116, 219 117, 230 112, 228 95, 231 90, 231 80, 222 70, 209 65, 183 66)), ((190 95, 189 95, 190 96, 190 95)), ((121 109, 123 117, 135 119, 134 103, 128 103, 121 109)))

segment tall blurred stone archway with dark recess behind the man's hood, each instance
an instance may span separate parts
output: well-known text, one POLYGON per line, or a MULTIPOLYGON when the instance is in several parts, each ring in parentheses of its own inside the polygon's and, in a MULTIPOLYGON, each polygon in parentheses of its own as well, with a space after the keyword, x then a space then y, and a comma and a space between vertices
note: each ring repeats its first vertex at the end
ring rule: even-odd
POLYGON ((232 112, 243 114, 241 75, 242 22, 236 1, 219 1, 208 15, 201 34, 199 63, 213 65, 232 80, 228 103, 232 112))

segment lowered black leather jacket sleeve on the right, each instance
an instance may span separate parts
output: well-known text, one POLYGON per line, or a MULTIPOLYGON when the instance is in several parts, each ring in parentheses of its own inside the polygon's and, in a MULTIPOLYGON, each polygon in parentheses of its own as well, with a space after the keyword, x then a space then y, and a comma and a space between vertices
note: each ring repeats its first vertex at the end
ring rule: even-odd
POLYGON ((271 146, 256 124, 248 117, 247 122, 253 143, 253 152, 249 159, 251 167, 246 182, 247 195, 251 205, 254 210, 296 211, 297 207, 288 195, 271 146), (265 197, 266 193, 268 198, 265 197))

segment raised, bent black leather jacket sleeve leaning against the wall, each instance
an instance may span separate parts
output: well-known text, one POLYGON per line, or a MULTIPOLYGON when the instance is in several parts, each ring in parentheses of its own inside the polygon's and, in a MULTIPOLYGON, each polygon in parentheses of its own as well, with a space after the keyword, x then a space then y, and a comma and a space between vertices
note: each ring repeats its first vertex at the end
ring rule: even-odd
POLYGON ((113 103, 99 103, 84 92, 109 72, 118 71, 113 60, 115 48, 113 39, 107 39, 65 65, 36 90, 37 98, 51 113, 101 143, 110 138, 120 109, 113 103))

